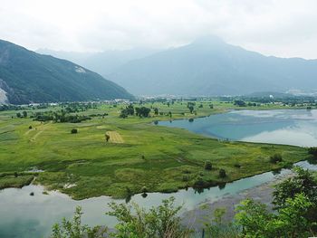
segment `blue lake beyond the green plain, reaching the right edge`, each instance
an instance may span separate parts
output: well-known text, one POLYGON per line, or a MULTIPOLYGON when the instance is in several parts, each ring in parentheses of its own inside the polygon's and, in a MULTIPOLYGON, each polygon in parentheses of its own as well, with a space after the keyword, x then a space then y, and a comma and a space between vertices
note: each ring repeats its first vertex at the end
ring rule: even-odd
POLYGON ((317 146, 316 109, 233 110, 192 122, 179 119, 159 121, 158 125, 220 139, 317 146))

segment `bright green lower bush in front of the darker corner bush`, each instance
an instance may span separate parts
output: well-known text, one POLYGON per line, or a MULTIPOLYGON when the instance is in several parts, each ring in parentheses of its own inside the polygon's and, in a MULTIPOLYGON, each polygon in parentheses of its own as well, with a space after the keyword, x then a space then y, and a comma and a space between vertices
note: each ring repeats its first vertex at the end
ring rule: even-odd
POLYGON ((303 194, 287 198, 278 214, 269 213, 266 205, 246 199, 236 208, 235 221, 242 226, 244 237, 308 237, 314 224, 306 218, 311 207, 303 194))

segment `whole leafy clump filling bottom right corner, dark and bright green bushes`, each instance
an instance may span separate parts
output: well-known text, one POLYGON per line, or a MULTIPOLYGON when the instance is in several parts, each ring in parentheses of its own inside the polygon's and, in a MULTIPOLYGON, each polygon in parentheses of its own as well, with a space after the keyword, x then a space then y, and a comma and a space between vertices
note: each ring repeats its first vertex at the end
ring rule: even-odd
POLYGON ((274 209, 247 199, 237 208, 236 224, 245 237, 309 237, 317 233, 317 181, 295 167, 295 176, 275 186, 274 209))

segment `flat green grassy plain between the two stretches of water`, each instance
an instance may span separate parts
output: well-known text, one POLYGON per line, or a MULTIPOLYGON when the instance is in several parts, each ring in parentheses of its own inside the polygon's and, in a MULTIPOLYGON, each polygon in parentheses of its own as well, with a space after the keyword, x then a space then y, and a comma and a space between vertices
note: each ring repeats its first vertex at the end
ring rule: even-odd
MULTIPOLYGON (((148 103, 146 107, 159 108, 164 115, 154 116, 151 110, 150 117, 142 119, 137 116, 120 119, 120 109, 125 105, 100 104, 97 109, 81 113, 109 115, 81 123, 39 122, 18 119, 15 110, 0 112, 0 188, 21 187, 34 177, 34 183, 58 189, 74 199, 98 195, 126 197, 140 193, 144 186, 149 192, 172 192, 194 185, 216 185, 308 157, 305 148, 218 141, 185 129, 151 123, 242 109, 219 101, 204 101, 203 108, 198 108, 199 104, 195 115, 189 113, 187 102, 175 102, 169 107, 159 102, 148 103), (214 109, 209 108, 210 103, 214 109), (166 115, 168 111, 172 113, 171 118, 166 115), (77 134, 71 134, 73 128, 78 129, 77 134), (106 133, 110 133, 109 142, 105 141, 106 133), (269 162, 275 153, 283 156, 282 163, 269 162), (204 169, 207 160, 213 165, 211 171, 204 169), (44 172, 24 173, 33 168, 44 172), (225 178, 218 176, 220 168, 226 170, 225 178)), ((32 115, 39 110, 27 112, 32 115)))

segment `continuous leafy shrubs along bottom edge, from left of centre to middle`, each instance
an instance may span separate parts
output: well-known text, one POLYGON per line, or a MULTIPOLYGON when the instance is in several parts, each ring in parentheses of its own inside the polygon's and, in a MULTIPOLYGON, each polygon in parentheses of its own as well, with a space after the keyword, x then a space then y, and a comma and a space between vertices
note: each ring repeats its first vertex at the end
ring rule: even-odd
POLYGON ((110 233, 101 226, 82 225, 82 210, 77 207, 72 221, 63 219, 62 224, 53 225, 51 238, 187 238, 190 231, 180 224, 181 206, 175 206, 174 201, 174 197, 163 200, 149 211, 136 204, 110 203, 111 211, 107 214, 118 220, 116 230, 110 233))

